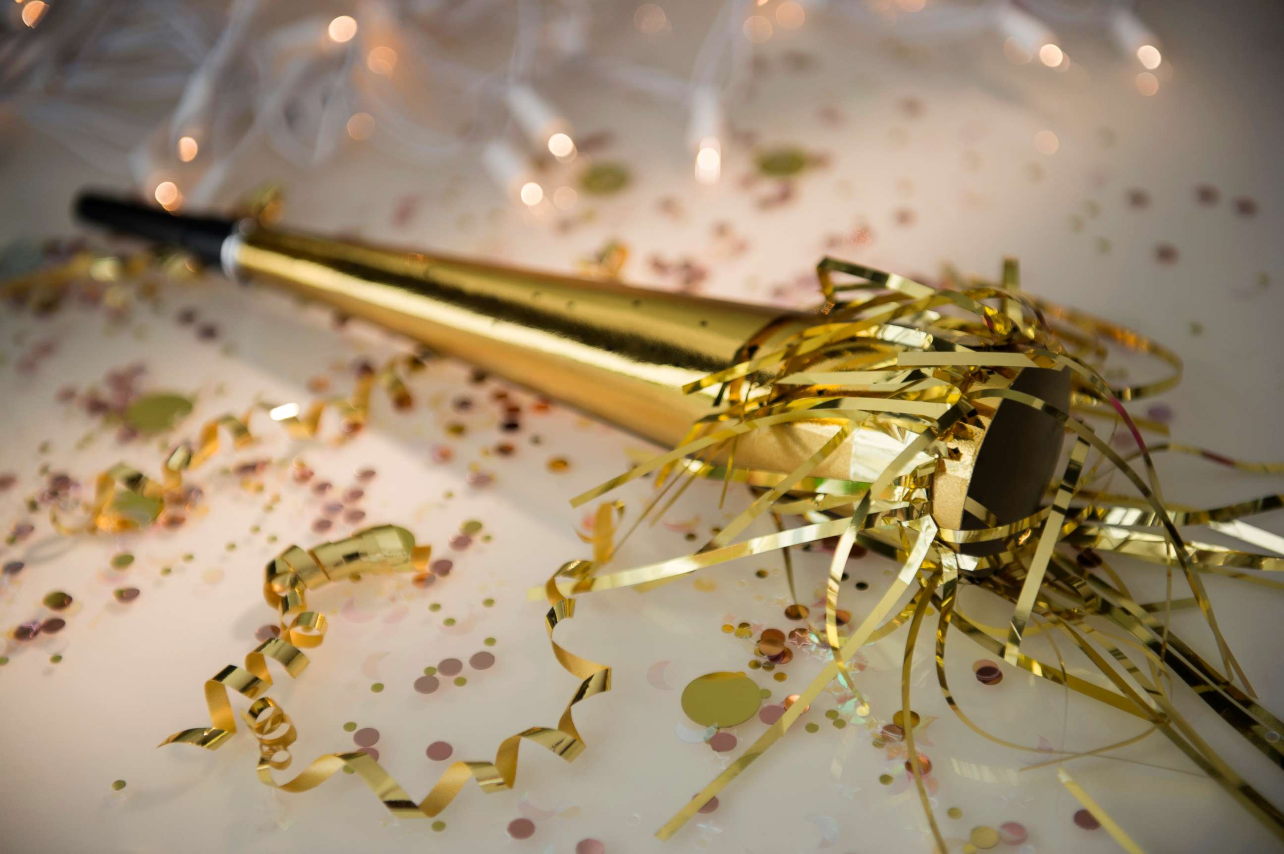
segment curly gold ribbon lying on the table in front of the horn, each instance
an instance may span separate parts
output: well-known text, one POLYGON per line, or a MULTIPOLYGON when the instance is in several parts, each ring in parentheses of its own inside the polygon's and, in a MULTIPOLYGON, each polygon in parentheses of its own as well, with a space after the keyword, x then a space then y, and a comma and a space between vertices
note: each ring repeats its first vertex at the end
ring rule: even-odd
MULTIPOLYGON (((609 559, 614 540, 614 515, 618 504, 598 508, 592 542, 597 559, 609 559)), ((308 664, 306 648, 320 646, 325 637, 325 615, 308 610, 307 590, 342 578, 354 578, 365 572, 422 571, 430 550, 416 548, 413 536, 404 528, 381 526, 369 528, 345 540, 327 542, 312 550, 290 546, 267 564, 263 596, 280 614, 281 635, 265 641, 245 657, 244 667, 229 664, 205 682, 205 704, 211 726, 176 732, 166 744, 187 744, 216 750, 236 732, 235 716, 229 701, 229 689, 250 700, 241 713, 258 741, 259 781, 286 792, 316 789, 343 768, 360 776, 366 786, 399 818, 431 818, 449 805, 469 780, 476 780, 482 791, 512 789, 517 777, 517 751, 523 741, 537 744, 570 762, 584 750, 584 740, 575 730, 573 708, 611 689, 611 669, 568 651, 552 640, 553 630, 575 613, 575 600, 557 590, 557 580, 588 578, 597 564, 571 560, 564 564, 546 585, 548 612, 544 627, 557 663, 579 680, 575 692, 562 710, 556 727, 530 727, 499 742, 494 760, 452 763, 421 801, 415 803, 401 785, 366 753, 331 753, 313 759, 294 778, 277 782, 272 772, 289 768, 289 748, 298 737, 290 716, 266 691, 272 686, 267 659, 281 664, 286 673, 298 677, 308 664)))

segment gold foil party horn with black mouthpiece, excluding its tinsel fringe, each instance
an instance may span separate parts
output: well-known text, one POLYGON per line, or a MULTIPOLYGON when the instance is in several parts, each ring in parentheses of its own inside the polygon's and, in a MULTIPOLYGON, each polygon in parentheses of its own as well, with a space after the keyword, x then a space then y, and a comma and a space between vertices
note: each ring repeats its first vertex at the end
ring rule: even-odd
MULTIPOLYGON (((218 264, 229 277, 271 282, 333 305, 668 448, 682 444, 692 424, 719 409, 747 405, 776 381, 788 381, 779 376, 783 360, 764 362, 736 377, 742 400, 732 401, 727 383, 701 386, 706 377, 754 364, 756 353, 772 353, 824 326, 824 315, 817 313, 331 240, 253 221, 175 215, 94 194, 78 199, 76 214, 113 231, 178 245, 218 264)), ((932 346, 930 335, 904 323, 889 323, 876 337, 932 346)), ((836 365, 855 362, 864 363, 869 376, 896 373, 895 356, 889 364, 886 354, 868 349, 864 339, 828 346, 836 365)), ((1021 376, 1012 389, 1066 406, 1064 372, 1014 371, 1021 376)), ((841 385, 850 387, 846 374, 841 385)), ((881 385, 887 383, 872 383, 874 398, 881 385)), ((863 400, 867 409, 880 405, 863 400)), ((794 418, 786 413, 770 430, 746 431, 732 450, 716 449, 706 462, 787 476, 823 454, 808 469, 809 482, 828 482, 820 491, 856 492, 918 437, 917 431, 898 428, 898 419, 919 419, 940 408, 904 400, 883 405, 877 419, 849 421, 853 437, 836 446, 838 422, 827 413, 799 412, 794 418)), ((1037 509, 1062 430, 1027 406, 1002 409, 1004 415, 993 427, 998 408, 981 413, 981 430, 957 442, 954 459, 935 478, 932 512, 941 527, 980 527, 975 515, 964 513, 968 498, 1000 524, 1037 509), (991 430, 1003 433, 1003 446, 986 454, 982 440, 991 430), (1013 465, 1013 454, 1019 465, 1013 465)), ((930 459, 923 455, 918 462, 930 459)), ((986 551, 982 545, 973 550, 986 551)))

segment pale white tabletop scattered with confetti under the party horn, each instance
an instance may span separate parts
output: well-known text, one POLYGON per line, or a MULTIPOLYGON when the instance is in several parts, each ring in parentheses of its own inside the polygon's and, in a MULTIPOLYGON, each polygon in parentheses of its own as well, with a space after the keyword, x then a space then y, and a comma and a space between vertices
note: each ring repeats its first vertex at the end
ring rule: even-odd
MULTIPOLYGON (((700 187, 681 142, 682 115, 593 91, 591 80, 564 81, 559 99, 582 133, 611 132, 612 141, 594 156, 627 164, 633 180, 609 197, 582 194, 565 213, 532 215, 501 199, 474 164, 411 168, 383 155, 374 141, 351 144, 324 176, 265 154, 236 176, 223 201, 273 180, 284 185, 290 226, 570 272, 615 239, 630 250, 624 268, 629 281, 677 287, 675 277, 659 273, 652 259, 691 259, 709 271, 701 292, 788 305, 814 301, 805 278, 824 253, 926 277, 946 262, 993 274, 1003 255, 1013 254, 1028 290, 1131 324, 1181 353, 1185 381, 1163 399, 1180 440, 1244 459, 1279 459, 1284 117, 1275 81, 1284 73, 1281 18, 1266 3, 1236 4, 1234 12, 1221 4, 1147 4, 1144 12, 1162 33, 1171 63, 1153 97, 1132 86, 1138 68, 1091 37, 1067 38, 1076 65, 1058 74, 1009 64, 993 37, 904 51, 850 24, 826 26, 819 14, 796 32, 778 32, 760 49, 767 71, 751 96, 733 106, 733 123, 755 132, 760 146, 796 144, 828 159, 796 180, 792 200, 778 206, 758 204, 776 191, 774 183, 746 187, 741 181, 752 172, 750 149, 727 146, 723 181, 700 187), (813 67, 791 69, 791 51, 811 56, 813 67), (1044 130, 1059 140, 1053 155, 1035 149, 1035 135, 1044 130), (1217 190, 1216 204, 1197 200, 1199 185, 1217 190), (1144 191, 1149 204, 1131 205, 1132 190, 1144 191), (1236 213, 1240 197, 1253 201, 1256 215, 1236 213), (407 205, 415 213, 395 218, 398 206, 407 205), (860 228, 869 230, 867 244, 845 237, 860 228), (1176 249, 1175 262, 1157 258, 1161 245, 1176 249)), ((672 37, 681 40, 682 18, 673 14, 672 37)), ((621 31, 619 38, 637 49, 642 36, 621 31)), ((78 187, 125 181, 123 172, 95 171, 21 123, 10 123, 6 133, 0 237, 65 235, 67 208, 78 187)), ((550 178, 546 187, 556 183, 550 178)), ((10 309, 0 314, 0 473, 18 478, 0 492, 0 523, 36 524, 26 541, 0 548, 0 560, 27 564, 0 582, 0 623, 8 630, 39 615, 51 590, 74 598, 60 633, 24 645, 5 641, 0 821, 6 850, 569 853, 584 839, 601 840, 612 853, 931 849, 903 758, 869 745, 899 704, 904 631, 865 651, 860 685, 873 705, 872 730, 833 728, 823 710, 836 698, 822 695, 806 717, 820 724, 819 732, 791 731, 727 789, 716 812, 698 816, 668 844, 651 836, 719 772, 727 755, 736 755, 684 741, 698 732, 678 698, 693 677, 743 669, 751 658, 752 644, 724 635, 724 622, 791 627, 781 614, 787 594, 778 555, 738 562, 646 596, 615 591, 584 599, 559 640, 614 667, 611 692, 577 709, 588 750, 568 766, 538 748, 523 748, 515 791, 484 796, 470 785, 442 816, 446 828, 439 832, 426 821, 393 821, 357 780, 343 774, 313 792, 271 792, 254 780, 253 741, 244 733, 216 753, 155 749, 168 733, 205 723, 202 682, 223 664, 240 663, 254 630, 272 622, 259 596, 263 563, 290 542, 320 539, 309 526, 321 499, 277 468, 263 476, 263 494, 249 494, 239 478, 221 473, 234 459, 298 455, 339 489, 352 483, 357 469, 372 467, 377 476, 360 501, 367 513, 362 524, 404 524, 455 560, 449 577, 429 590, 406 578, 367 578, 316 598, 334 619, 326 644, 300 680, 285 680, 272 691, 302 731, 297 767, 313 754, 353 749, 342 728, 353 721, 379 730, 381 762, 421 798, 444 767, 425 757, 429 742, 451 742, 453 758, 490 758, 502 737, 556 721, 574 680, 552 660, 543 607, 526 601, 524 591, 564 560, 587 557, 574 533, 582 512, 566 499, 621 471, 625 451, 641 444, 574 413, 537 413, 529 405, 523 430, 501 433, 489 396, 506 386, 494 380, 473 385, 464 365, 431 363, 411 381, 413 410, 397 413, 379 400, 370 428, 347 444, 291 445, 270 426, 257 430, 258 446, 223 453, 194 474, 207 491, 208 513, 172 532, 64 539, 45 515, 23 509, 45 463, 89 483, 119 459, 152 472, 160 462, 155 442, 119 445, 114 431, 82 408, 58 403, 63 386, 101 385, 108 371, 141 363, 139 389, 195 395, 196 410, 178 430, 186 435, 203 418, 239 412, 256 399, 306 400, 312 396, 308 381, 318 376, 334 390, 348 387, 354 359, 380 362, 406 346, 360 323, 336 330, 326 312, 299 310, 282 296, 236 289, 217 277, 166 286, 158 309, 140 305, 123 321, 85 306, 42 319, 10 309), (199 341, 191 327, 176 322, 184 308, 217 324, 217 339, 199 341), (42 341, 51 341, 53 351, 32 373, 21 372, 23 355, 42 341), (452 408, 461 395, 474 399, 469 412, 452 408), (455 421, 467 427, 464 436, 447 433, 446 424, 455 421), (86 435, 94 440, 77 449, 86 435), (512 441, 517 451, 510 458, 489 454, 499 441, 512 441), (41 442, 48 442, 44 451, 41 442), (431 458, 440 445, 453 450, 451 462, 431 458), (546 467, 557 455, 570 460, 568 472, 546 467), (473 464, 494 482, 470 485, 473 464), (266 513, 266 496, 273 492, 280 503, 266 513), (467 519, 482 521, 492 540, 453 553, 448 542, 467 519), (270 535, 276 540, 268 541, 270 535), (113 571, 109 559, 121 551, 135 562, 113 571), (191 559, 184 560, 185 554, 191 559), (173 571, 162 574, 162 567, 173 571), (755 577, 758 568, 770 569, 768 578, 755 577), (121 586, 135 586, 141 595, 127 605, 116 603, 112 591, 121 586), (494 607, 483 607, 485 598, 494 607), (440 610, 430 610, 430 603, 440 610), (446 617, 457 622, 446 626, 446 617), (464 687, 415 692, 412 682, 424 667, 448 657, 466 660, 485 649, 484 637, 496 639, 489 648, 494 667, 465 669, 464 687), (55 654, 63 655, 58 664, 50 663, 55 654), (370 690, 376 681, 386 685, 380 694, 370 690), (883 773, 896 782, 880 785, 883 773), (110 789, 117 778, 127 781, 121 792, 110 789), (508 837, 506 827, 519 817, 535 822, 532 839, 508 837)), ((1278 480, 1233 478, 1195 463, 1167 462, 1163 472, 1170 499, 1201 505, 1279 489, 1278 480)), ((624 491, 633 512, 645 494, 645 487, 624 491)), ((710 526, 745 501, 734 495, 719 510, 716 494, 713 485, 693 489, 668 518, 690 523, 705 539, 710 526)), ((1284 527, 1270 517, 1263 524, 1284 527)), ((686 530, 645 528, 621 560, 681 554, 691 548, 686 530)), ((823 565, 817 555, 802 557, 805 591, 819 587, 823 565)), ((845 605, 856 614, 869 607, 889 565, 872 557, 854 563, 853 576, 868 580, 871 591, 845 589, 845 605)), ((1140 568, 1129 574, 1156 595, 1159 577, 1140 568)), ((1280 712, 1279 595, 1222 578, 1208 586, 1263 704, 1280 712)), ((980 598, 975 607, 985 613, 980 598)), ((999 612, 991 615, 991 622, 1004 619, 999 612)), ((1179 614, 1175 627, 1198 649, 1211 648, 1193 614, 1179 614)), ((1136 731, 1126 716, 1067 700, 1054 686, 1035 685, 1012 669, 1002 685, 982 686, 969 678, 972 660, 982 657, 955 637, 953 685, 966 708, 1004 737, 1090 749, 1136 731)), ((819 667, 800 651, 783 668, 786 682, 769 681, 760 671, 754 678, 779 701, 819 667)), ((1008 821, 1027 828, 1021 849, 1027 853, 1116 849, 1104 831, 1075 826, 1079 805, 1054 767, 1018 773, 1037 757, 991 745, 951 716, 935 687, 930 646, 919 650, 913 673, 914 708, 937 717, 922 732, 922 750, 933 764, 937 819, 951 851, 972 827, 1008 821), (980 767, 999 782, 968 776, 980 767), (950 807, 962 808, 963 817, 948 818, 950 807)), ((1278 769, 1238 745, 1189 696, 1181 708, 1267 798, 1284 803, 1278 769)), ((756 719, 737 727, 741 746, 761 728, 756 719)), ((1161 736, 1117 757, 1068 768, 1145 850, 1274 845, 1161 736)), ((999 850, 1009 848, 1000 844, 999 850)))

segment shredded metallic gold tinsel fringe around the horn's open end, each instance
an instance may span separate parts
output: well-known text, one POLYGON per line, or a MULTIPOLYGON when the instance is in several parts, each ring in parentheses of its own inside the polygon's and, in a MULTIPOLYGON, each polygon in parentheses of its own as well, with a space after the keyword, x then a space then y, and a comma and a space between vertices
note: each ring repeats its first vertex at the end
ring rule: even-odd
MULTIPOLYGON (((722 385, 724 405, 693 426, 687 441, 674 450, 648 459, 624 474, 575 498, 583 504, 615 487, 656 473, 657 486, 668 489, 670 477, 715 477, 745 482, 759 498, 714 539, 693 554, 660 563, 615 571, 593 578, 556 582, 565 592, 583 594, 616 587, 648 590, 682 574, 727 560, 791 546, 837 539, 829 565, 824 640, 833 659, 800 692, 799 699, 745 753, 687 803, 657 832, 668 839, 724 786, 778 741, 819 692, 835 678, 849 683, 845 662, 868 642, 883 636, 880 623, 896 612, 896 603, 918 585, 909 605, 883 628, 895 628, 912 615, 905 645, 901 714, 910 719, 909 662, 930 604, 939 610, 936 636, 937 677, 950 709, 973 731, 996 744, 1022 748, 985 732, 958 705, 945 681, 948 630, 953 624, 967 637, 1011 666, 1090 696, 1104 705, 1140 718, 1145 730, 1118 744, 1086 753, 1059 753, 1057 764, 1084 755, 1131 744, 1152 732, 1174 741, 1204 773, 1219 782, 1267 828, 1284 839, 1284 816, 1248 786, 1194 731, 1168 699, 1171 682, 1179 678, 1249 744, 1284 767, 1284 733, 1279 719, 1254 699, 1252 686, 1217 626, 1212 603, 1204 591, 1206 573, 1230 574, 1256 583, 1284 586, 1261 577, 1261 572, 1284 568, 1284 559, 1251 550, 1186 541, 1177 526, 1208 524, 1244 542, 1284 555, 1284 540, 1243 519, 1281 505, 1280 495, 1211 509, 1177 508, 1165 503, 1153 458, 1161 451, 1201 456, 1221 465, 1280 473, 1284 465, 1252 464, 1220 454, 1176 444, 1148 446, 1141 427, 1166 435, 1162 424, 1139 422, 1121 405, 1167 389, 1180 380, 1181 362, 1166 347, 1129 330, 1048 303, 1018 290, 1017 268, 1009 262, 999 285, 958 282, 944 290, 878 271, 826 259, 819 265, 827 305, 818 322, 768 353, 691 383, 687 391, 722 385), (836 274, 856 278, 836 283, 836 274), (912 333, 917 332, 917 335, 912 333), (1168 376, 1147 383, 1112 386, 1102 377, 1111 346, 1152 355, 1171 367, 1168 376), (1068 372, 1072 380, 1071 406, 1062 409, 1048 400, 1012 389, 1023 368, 1068 372), (760 382, 765 369, 777 372, 760 394, 750 395, 750 383, 760 382), (761 394, 765 392, 765 394, 761 394), (1064 467, 1049 485, 1050 503, 1025 519, 998 524, 976 500, 966 510, 982 527, 941 530, 931 509, 933 477, 948 471, 951 446, 984 431, 999 404, 1030 406, 1055 418, 1073 439, 1064 467), (1126 430, 1138 450, 1127 456, 1084 421, 1104 421, 1126 430), (740 436, 777 424, 811 421, 835 427, 833 437, 792 472, 763 472, 736 468, 733 446, 740 436), (842 442, 855 424, 883 430, 905 440, 905 450, 873 483, 855 480, 813 477, 811 472, 842 442), (917 437, 913 435, 917 433, 917 437), (706 462, 720 459, 720 463, 706 462), (1134 462, 1140 463, 1140 469, 1134 462), (1112 474, 1121 474, 1140 498, 1109 491, 1112 474), (802 524, 781 527, 777 533, 736 541, 758 518, 794 517, 802 524), (895 581, 874 609, 847 636, 838 632, 838 582, 847 555, 856 541, 903 562, 895 581), (996 553, 977 554, 966 546, 993 544, 996 553), (1058 546, 1068 545, 1085 555, 1068 558, 1058 546), (1138 604, 1102 554, 1136 557, 1179 568, 1190 587, 1189 600, 1138 604), (1098 569, 1097 574, 1093 571, 1098 569), (1104 577, 1103 577, 1104 576, 1104 577), (1012 604, 1005 628, 986 627, 957 609, 960 582, 986 590, 1012 604), (1221 669, 1199 658, 1167 624, 1176 607, 1197 607, 1217 642, 1221 669), (1125 635, 1116 640, 1089 622, 1104 618, 1125 635), (1035 621, 1043 621, 1035 624, 1035 621), (1095 664, 1109 682, 1102 687, 1057 667, 1030 658, 1025 640, 1034 633, 1071 639, 1075 648, 1095 664), (1120 648, 1120 641, 1143 657, 1149 676, 1120 648), (1104 653, 1104 654, 1103 654, 1104 653), (1275 737, 1270 737, 1274 733, 1275 737)), ((690 481, 688 481, 690 482, 690 481)), ((654 507, 654 504, 652 504, 654 507)), ((792 580, 792 572, 790 573, 792 580)), ((1054 642, 1054 641, 1053 641, 1054 642)), ((945 841, 932 817, 923 785, 923 768, 913 745, 913 728, 905 731, 910 768, 937 848, 945 841)), ((1022 748, 1028 749, 1028 748, 1022 748)), ((1138 850, 1127 835, 1095 803, 1089 805, 1082 789, 1059 772, 1064 785, 1112 836, 1129 850, 1138 850)))

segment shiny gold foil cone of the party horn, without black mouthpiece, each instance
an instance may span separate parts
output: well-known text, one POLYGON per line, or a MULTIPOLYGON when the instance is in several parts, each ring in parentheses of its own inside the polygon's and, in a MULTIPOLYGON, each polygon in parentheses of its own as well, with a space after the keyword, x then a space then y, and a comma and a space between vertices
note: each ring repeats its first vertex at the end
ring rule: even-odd
MULTIPOLYGON (((706 417, 716 386, 683 387, 817 322, 769 306, 633 289, 439 255, 253 230, 239 272, 372 321, 661 445, 706 417)), ((760 381, 770 378, 764 368, 760 381)), ((817 469, 873 480, 908 435, 858 427, 817 469)), ((742 437, 738 463, 790 472, 833 426, 782 424, 742 437)))

